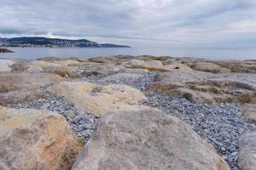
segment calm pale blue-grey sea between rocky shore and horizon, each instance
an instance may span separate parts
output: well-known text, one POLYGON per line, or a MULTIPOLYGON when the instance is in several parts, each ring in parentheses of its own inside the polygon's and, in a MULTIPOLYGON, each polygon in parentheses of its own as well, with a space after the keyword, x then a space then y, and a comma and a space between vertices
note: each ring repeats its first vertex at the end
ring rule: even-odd
POLYGON ((0 58, 38 59, 39 57, 93 57, 99 55, 152 54, 205 59, 256 59, 256 48, 9 48, 15 53, 0 58))

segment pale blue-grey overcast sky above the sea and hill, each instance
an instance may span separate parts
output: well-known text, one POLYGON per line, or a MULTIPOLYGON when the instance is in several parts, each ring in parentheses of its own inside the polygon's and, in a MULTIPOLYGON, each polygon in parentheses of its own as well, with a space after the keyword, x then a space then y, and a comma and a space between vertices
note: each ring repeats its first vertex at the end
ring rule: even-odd
POLYGON ((0 0, 0 37, 135 48, 256 47, 255 0, 0 0))

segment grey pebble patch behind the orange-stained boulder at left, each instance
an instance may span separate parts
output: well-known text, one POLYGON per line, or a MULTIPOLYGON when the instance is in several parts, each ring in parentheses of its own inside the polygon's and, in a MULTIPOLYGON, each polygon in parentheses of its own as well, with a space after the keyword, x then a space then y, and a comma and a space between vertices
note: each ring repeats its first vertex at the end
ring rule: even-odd
POLYGON ((7 106, 15 109, 28 108, 55 111, 64 116, 69 125, 73 128, 74 133, 85 141, 90 139, 92 134, 96 131, 96 126, 100 118, 94 114, 79 111, 72 103, 67 103, 61 97, 52 94, 47 94, 44 99, 36 99, 7 106))

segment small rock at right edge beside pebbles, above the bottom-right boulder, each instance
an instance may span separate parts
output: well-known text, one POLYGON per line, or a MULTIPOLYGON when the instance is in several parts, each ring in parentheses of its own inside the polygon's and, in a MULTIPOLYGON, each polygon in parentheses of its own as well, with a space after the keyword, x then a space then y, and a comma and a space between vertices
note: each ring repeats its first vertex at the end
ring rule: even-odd
POLYGON ((244 104, 241 109, 242 116, 250 122, 256 122, 256 104, 244 104))

